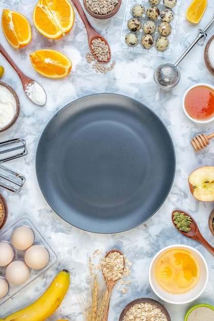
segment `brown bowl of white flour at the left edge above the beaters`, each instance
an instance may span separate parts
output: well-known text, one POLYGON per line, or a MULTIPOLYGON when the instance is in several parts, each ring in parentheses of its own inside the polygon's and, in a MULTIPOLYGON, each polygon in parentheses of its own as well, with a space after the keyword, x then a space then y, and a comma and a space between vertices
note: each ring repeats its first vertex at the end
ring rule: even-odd
POLYGON ((20 112, 19 98, 8 84, 0 82, 0 132, 10 128, 20 112))

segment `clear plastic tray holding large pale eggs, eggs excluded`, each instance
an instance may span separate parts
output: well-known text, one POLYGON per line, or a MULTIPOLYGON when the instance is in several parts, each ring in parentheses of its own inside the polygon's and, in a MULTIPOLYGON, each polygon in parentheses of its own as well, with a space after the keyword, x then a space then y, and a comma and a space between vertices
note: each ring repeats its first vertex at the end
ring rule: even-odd
MULTIPOLYGON (((45 238, 42 237, 42 235, 39 233, 39 231, 33 225, 31 220, 28 219, 28 218, 19 219, 16 223, 14 223, 12 226, 10 226, 7 230, 2 232, 0 234, 0 242, 1 241, 6 241, 9 244, 11 244, 11 235, 12 235, 13 230, 16 227, 22 226, 22 225, 28 226, 33 230, 34 237, 35 237, 33 244, 42 245, 42 246, 46 247, 46 249, 49 251, 49 255, 50 255, 49 262, 44 268, 39 269, 39 270, 34 270, 34 269, 30 268, 30 276, 29 276, 28 280, 25 283, 23 283, 21 285, 14 285, 14 284, 10 284, 9 283, 9 292, 8 292, 8 294, 6 296, 4 296, 3 298, 0 298, 0 306, 3 303, 5 303, 9 298, 11 298, 13 295, 15 295, 18 291, 22 290, 24 287, 26 287, 28 284, 30 284, 39 275, 44 273, 47 269, 52 267, 57 262, 57 256, 56 256, 55 252, 48 245, 48 243, 46 242, 45 238)), ((25 254, 25 251, 17 250, 16 248, 14 248, 13 260, 16 260, 16 259, 24 260, 24 254, 25 254)), ((6 267, 7 266, 5 266, 5 267, 0 266, 0 276, 2 276, 4 278, 5 278, 6 267)))

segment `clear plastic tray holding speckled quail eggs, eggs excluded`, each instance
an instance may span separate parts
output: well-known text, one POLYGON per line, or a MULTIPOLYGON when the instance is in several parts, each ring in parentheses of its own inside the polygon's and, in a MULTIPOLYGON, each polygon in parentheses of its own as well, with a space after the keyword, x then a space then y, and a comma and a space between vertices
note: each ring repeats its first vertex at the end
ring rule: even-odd
MULTIPOLYGON (((127 50, 127 51, 132 51, 132 52, 138 52, 138 53, 145 53, 145 54, 152 54, 152 55, 157 55, 157 56, 163 56, 163 57, 170 57, 172 56, 173 53, 173 46, 174 46, 174 42, 175 42, 175 34, 176 34, 176 29, 178 26, 178 12, 179 12, 179 6, 180 6, 180 0, 177 0, 177 4, 174 8, 169 9, 170 11, 173 12, 174 14, 174 19, 172 22, 170 22, 170 26, 172 28, 172 32, 170 33, 170 35, 166 36, 168 39, 168 47, 166 50, 164 51, 158 51, 155 48, 155 42, 157 40, 157 38, 159 36, 161 36, 161 34, 159 34, 158 32, 158 25, 162 22, 161 17, 159 15, 159 17, 155 20, 151 20, 146 16, 146 10, 149 7, 152 7, 152 5, 149 3, 149 0, 127 0, 126 2, 126 7, 125 7, 125 14, 124 14, 124 18, 123 18, 123 25, 122 25, 122 32, 121 32, 121 38, 120 38, 120 48, 122 50, 127 50), (154 44, 151 48, 149 49, 145 49, 144 47, 142 47, 141 45, 141 38, 142 36, 145 34, 141 29, 138 32, 133 32, 130 31, 129 28, 127 27, 127 22, 132 19, 132 18, 136 18, 133 14, 132 14, 132 8, 137 5, 137 4, 141 4, 143 5, 143 7, 145 8, 145 13, 142 15, 142 17, 137 18, 139 19, 139 21, 141 22, 141 26, 146 22, 146 21, 153 21, 156 24, 156 30, 154 33, 152 33, 152 36, 154 38, 154 44), (130 47, 127 46, 125 43, 125 36, 128 33, 135 33, 137 38, 138 38, 138 43, 135 47, 130 47)), ((162 10, 164 9, 168 9, 163 5, 163 1, 160 1, 160 3, 156 6, 159 10, 160 13, 162 10)))

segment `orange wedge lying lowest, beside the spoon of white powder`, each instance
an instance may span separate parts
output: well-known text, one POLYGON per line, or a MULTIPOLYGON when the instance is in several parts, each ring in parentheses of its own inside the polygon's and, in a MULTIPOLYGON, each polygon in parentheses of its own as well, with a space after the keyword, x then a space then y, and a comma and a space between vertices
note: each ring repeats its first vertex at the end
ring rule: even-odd
POLYGON ((53 49, 40 49, 30 54, 33 68, 49 78, 66 77, 72 68, 72 62, 63 53, 53 49))

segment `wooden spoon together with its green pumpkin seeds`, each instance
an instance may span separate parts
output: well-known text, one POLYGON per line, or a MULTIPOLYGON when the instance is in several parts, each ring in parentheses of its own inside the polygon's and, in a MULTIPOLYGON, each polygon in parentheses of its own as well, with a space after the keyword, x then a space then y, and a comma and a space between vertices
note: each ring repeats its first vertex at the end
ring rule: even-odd
MULTIPOLYGON (((182 217, 180 217, 182 219, 182 217)), ((213 256, 214 256, 214 248, 211 247, 211 245, 205 240, 205 238, 201 235, 201 232, 199 231, 199 228, 195 222, 195 220, 189 215, 187 214, 186 212, 184 211, 181 211, 181 210, 175 210, 173 211, 172 213, 172 220, 173 220, 173 224, 174 226, 177 228, 177 230, 187 236, 187 237, 190 237, 192 239, 195 239, 197 240, 199 243, 201 243, 213 256), (182 220, 178 220, 179 218, 179 213, 180 215, 184 215, 184 217, 189 217, 189 222, 191 222, 188 227, 189 229, 186 230, 186 232, 184 230, 181 229, 180 226, 178 226, 178 222, 182 222, 182 220)), ((185 226, 185 225, 184 225, 185 226)))

